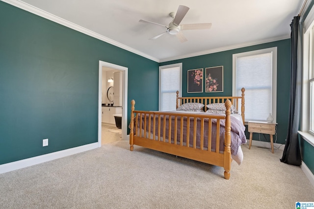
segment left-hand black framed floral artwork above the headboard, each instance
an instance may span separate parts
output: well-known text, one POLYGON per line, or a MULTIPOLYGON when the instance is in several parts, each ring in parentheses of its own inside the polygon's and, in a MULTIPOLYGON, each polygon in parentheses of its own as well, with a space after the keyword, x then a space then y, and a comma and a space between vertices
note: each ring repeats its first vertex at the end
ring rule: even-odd
POLYGON ((187 93, 203 92, 203 68, 187 70, 187 93))

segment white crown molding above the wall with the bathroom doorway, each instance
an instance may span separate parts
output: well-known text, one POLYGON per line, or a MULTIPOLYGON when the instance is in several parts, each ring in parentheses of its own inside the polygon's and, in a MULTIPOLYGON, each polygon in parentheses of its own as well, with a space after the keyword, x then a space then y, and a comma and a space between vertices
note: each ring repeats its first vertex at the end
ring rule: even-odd
POLYGON ((148 54, 145 54, 145 53, 143 53, 141 51, 138 51, 138 50, 136 50, 134 48, 131 48, 129 46, 123 45, 123 44, 121 44, 119 42, 116 42, 116 41, 114 41, 112 39, 109 39, 109 38, 107 38, 105 36, 102 36, 102 35, 100 35, 98 33, 95 33, 95 32, 93 32, 91 30, 88 30, 88 29, 86 29, 84 27, 81 27, 81 26, 79 26, 79 25, 77 25, 75 23, 71 23, 71 22, 69 22, 67 20, 59 18, 59 17, 57 17, 55 15, 52 15, 52 14, 50 14, 50 13, 44 11, 44 10, 41 10, 41 9, 39 9, 37 7, 34 7, 34 6, 30 5, 30 4, 27 4, 27 3, 25 3, 25 2, 23 2, 21 0, 1 0, 1 1, 3 1, 5 3, 8 3, 8 4, 11 4, 11 5, 15 6, 15 7, 20 8, 20 9, 23 9, 23 10, 25 10, 27 12, 32 13, 32 14, 38 15, 38 16, 40 16, 42 18, 47 19, 47 20, 50 20, 50 21, 53 21, 55 23, 59 23, 61 25, 64 25, 64 26, 69 27, 71 29, 74 29, 74 30, 76 30, 78 32, 84 33, 84 34, 86 34, 88 36, 91 36, 91 37, 94 37, 94 38, 99 39, 101 41, 104 41, 104 42, 106 42, 108 44, 111 44, 113 46, 117 46, 119 48, 125 49, 125 50, 130 51, 130 52, 132 52, 134 54, 140 55, 142 57, 145 57, 147 59, 150 59, 150 60, 153 60, 153 61, 159 63, 159 59, 157 59, 155 57, 152 57, 152 56, 150 56, 148 54))

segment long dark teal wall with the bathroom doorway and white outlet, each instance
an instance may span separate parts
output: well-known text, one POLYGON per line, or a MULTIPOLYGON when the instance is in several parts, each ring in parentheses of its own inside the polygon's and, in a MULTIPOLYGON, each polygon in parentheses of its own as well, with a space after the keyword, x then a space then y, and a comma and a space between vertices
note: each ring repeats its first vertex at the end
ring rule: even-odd
POLYGON ((99 60, 129 69, 128 104, 158 109, 157 62, 2 1, 0 28, 0 164, 97 142, 99 60))

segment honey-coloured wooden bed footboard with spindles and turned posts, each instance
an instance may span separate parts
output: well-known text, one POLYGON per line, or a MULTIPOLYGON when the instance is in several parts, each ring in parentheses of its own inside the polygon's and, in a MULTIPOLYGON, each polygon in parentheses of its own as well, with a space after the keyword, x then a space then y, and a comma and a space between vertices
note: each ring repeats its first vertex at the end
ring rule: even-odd
POLYGON ((224 116, 136 111, 135 101, 132 100, 130 150, 133 151, 135 144, 221 166, 225 170, 225 179, 229 179, 232 162, 231 105, 231 101, 226 100, 224 116))

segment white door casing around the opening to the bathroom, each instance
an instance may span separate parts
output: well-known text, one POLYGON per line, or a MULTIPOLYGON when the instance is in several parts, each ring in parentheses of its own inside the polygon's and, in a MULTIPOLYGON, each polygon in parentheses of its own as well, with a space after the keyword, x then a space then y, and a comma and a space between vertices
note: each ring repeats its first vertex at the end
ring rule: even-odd
POLYGON ((98 147, 102 146, 102 98, 103 98, 103 68, 119 70, 122 72, 122 140, 127 138, 128 114, 128 68, 112 63, 99 61, 99 87, 98 87, 98 147))

